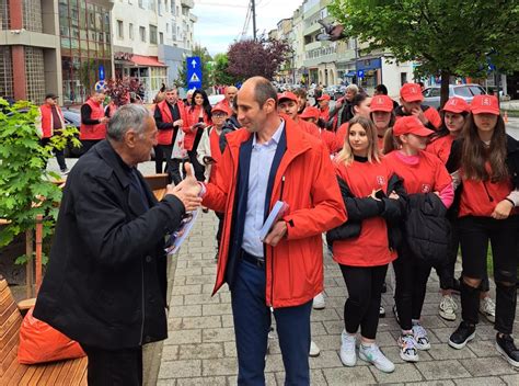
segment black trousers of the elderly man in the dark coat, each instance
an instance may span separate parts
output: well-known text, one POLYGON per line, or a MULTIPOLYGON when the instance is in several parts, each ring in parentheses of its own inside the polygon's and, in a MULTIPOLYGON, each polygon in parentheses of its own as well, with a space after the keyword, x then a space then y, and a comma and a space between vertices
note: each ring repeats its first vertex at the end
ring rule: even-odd
POLYGON ((81 344, 89 357, 89 386, 142 385, 142 348, 104 350, 81 344))

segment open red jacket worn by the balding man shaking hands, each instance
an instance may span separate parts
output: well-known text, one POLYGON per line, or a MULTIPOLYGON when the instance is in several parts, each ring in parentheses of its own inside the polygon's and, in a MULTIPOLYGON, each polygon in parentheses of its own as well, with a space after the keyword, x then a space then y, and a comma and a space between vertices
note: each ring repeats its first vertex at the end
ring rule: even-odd
MULTIPOLYGON (((287 150, 274 181, 270 208, 278 200, 288 203, 289 214, 284 217, 288 232, 276 247, 266 248, 265 257, 266 304, 275 308, 304 304, 323 291, 321 234, 346 220, 344 202, 324 145, 302 133, 292 120, 284 118, 287 150)), ((216 182, 206 185, 203 204, 224 213, 226 218, 214 293, 224 282, 239 151, 241 144, 250 136, 244 128, 227 135, 229 146, 218 167, 216 182)))

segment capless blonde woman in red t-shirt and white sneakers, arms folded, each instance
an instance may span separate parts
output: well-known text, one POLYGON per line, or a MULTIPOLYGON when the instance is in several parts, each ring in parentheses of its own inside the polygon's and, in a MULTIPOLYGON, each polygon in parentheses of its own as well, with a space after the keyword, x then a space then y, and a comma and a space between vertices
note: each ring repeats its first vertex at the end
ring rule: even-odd
MULTIPOLYGON (((380 351, 374 338, 382 284, 388 264, 396 258, 390 247, 383 213, 388 206, 399 207, 394 201, 399 195, 388 192, 393 172, 381 159, 377 128, 369 118, 357 116, 349 121, 343 150, 335 161, 335 171, 341 184, 345 184, 351 193, 344 197, 348 223, 360 223, 359 235, 333 242, 333 259, 339 264, 348 288, 341 361, 346 366, 355 365, 356 334, 360 327, 359 357, 382 372, 391 373, 394 364, 380 351), (385 198, 387 195, 393 200, 385 198)), ((348 223, 343 226, 348 226, 348 223)))

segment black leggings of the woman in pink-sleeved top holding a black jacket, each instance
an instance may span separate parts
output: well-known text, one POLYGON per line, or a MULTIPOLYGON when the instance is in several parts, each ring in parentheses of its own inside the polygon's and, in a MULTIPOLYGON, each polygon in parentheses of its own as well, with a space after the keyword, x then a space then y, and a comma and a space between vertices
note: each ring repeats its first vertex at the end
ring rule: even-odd
POLYGON ((413 327, 412 320, 420 318, 431 266, 417 261, 404 242, 399 250, 399 259, 393 261, 393 269, 396 282, 394 303, 400 327, 408 331, 413 327))

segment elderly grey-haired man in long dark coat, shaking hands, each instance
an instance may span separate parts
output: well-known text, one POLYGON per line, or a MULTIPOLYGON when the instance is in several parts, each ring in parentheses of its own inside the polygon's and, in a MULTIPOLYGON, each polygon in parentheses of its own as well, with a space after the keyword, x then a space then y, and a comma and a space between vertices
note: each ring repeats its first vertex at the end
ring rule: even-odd
POLYGON ((141 385, 142 344, 168 334, 164 236, 200 198, 189 172, 157 202, 137 170, 155 143, 148 110, 125 105, 65 188, 34 316, 81 344, 89 385, 141 385))

